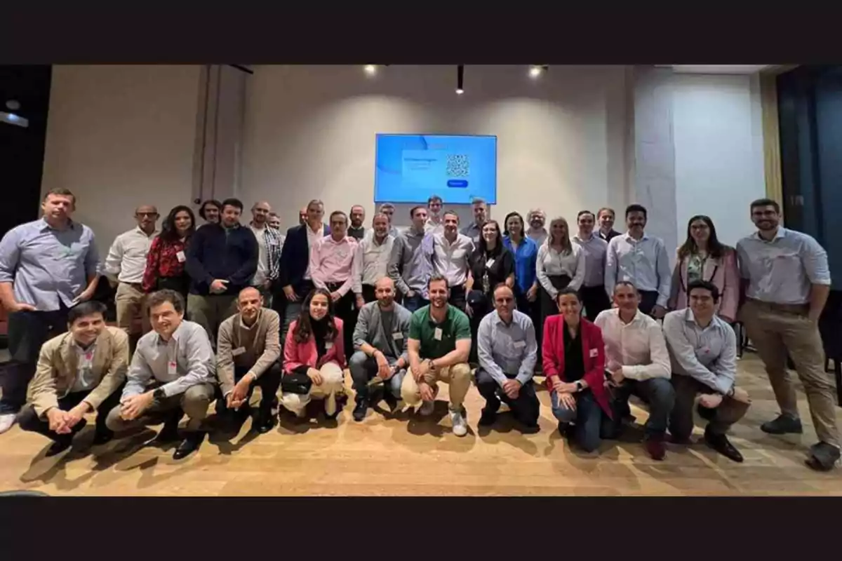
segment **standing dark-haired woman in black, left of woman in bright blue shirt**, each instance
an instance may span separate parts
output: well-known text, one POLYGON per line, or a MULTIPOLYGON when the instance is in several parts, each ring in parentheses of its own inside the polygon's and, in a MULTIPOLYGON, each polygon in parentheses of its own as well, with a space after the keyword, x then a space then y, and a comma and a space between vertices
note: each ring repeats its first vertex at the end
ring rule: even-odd
POLYGON ((497 220, 488 220, 482 225, 477 247, 468 257, 468 278, 465 282, 467 314, 471 317, 470 362, 477 362, 477 330, 479 322, 493 310, 494 287, 505 283, 514 287, 514 257, 503 245, 500 225, 497 220))

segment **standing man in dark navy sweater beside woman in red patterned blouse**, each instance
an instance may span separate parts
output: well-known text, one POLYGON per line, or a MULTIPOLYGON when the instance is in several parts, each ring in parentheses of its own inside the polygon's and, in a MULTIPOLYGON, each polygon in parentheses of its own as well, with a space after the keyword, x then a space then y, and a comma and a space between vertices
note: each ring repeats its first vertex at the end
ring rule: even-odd
POLYGON ((240 214, 242 203, 226 198, 220 223, 196 230, 187 247, 187 308, 211 344, 222 321, 237 313, 237 294, 249 286, 258 268, 258 242, 252 230, 240 225, 240 214))

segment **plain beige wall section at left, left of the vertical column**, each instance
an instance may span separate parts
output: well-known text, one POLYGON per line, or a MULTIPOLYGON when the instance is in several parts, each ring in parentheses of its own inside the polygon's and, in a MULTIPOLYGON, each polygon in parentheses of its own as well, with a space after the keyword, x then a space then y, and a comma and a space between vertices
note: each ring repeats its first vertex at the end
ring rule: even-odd
POLYGON ((42 193, 69 188, 104 257, 135 225, 190 204, 200 66, 53 66, 42 193))

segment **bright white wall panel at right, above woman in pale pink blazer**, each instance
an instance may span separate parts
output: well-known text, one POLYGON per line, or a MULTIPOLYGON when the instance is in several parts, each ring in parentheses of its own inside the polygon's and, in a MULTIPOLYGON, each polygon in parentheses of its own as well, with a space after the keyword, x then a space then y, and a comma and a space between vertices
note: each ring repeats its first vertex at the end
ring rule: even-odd
POLYGON ((677 242, 707 214, 733 246, 753 230, 749 203, 765 196, 759 78, 676 74, 673 86, 677 242))

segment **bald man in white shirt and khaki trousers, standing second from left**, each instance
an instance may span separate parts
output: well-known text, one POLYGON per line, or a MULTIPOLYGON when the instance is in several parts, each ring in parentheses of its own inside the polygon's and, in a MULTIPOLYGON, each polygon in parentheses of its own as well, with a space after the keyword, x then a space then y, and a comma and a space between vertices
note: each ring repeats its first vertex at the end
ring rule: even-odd
POLYGON ((159 233, 157 220, 157 209, 151 204, 137 207, 136 227, 117 236, 105 258, 105 275, 111 286, 117 288, 117 326, 129 335, 131 352, 141 335, 150 330, 148 316, 143 313, 146 293, 141 283, 149 246, 159 233))

